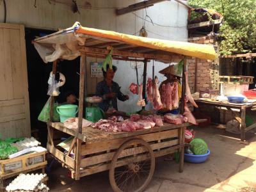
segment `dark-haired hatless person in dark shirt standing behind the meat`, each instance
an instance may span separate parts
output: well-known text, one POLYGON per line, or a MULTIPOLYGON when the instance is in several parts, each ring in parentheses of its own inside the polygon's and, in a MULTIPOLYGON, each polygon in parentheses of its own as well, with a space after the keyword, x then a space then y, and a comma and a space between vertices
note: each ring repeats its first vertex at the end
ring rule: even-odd
POLYGON ((117 67, 113 65, 110 68, 109 64, 106 65, 106 71, 102 68, 104 80, 97 84, 96 95, 103 99, 103 102, 99 104, 103 111, 108 111, 108 109, 115 109, 117 111, 117 99, 122 101, 129 99, 128 95, 120 92, 118 83, 113 81, 116 70, 117 67))

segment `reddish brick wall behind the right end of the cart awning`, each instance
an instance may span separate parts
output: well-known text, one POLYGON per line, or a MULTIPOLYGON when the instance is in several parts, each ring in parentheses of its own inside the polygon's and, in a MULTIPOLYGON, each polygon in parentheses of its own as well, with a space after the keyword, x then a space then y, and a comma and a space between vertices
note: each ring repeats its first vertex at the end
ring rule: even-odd
MULTIPOLYGON (((211 36, 189 38, 195 44, 218 45, 211 36)), ((191 58, 187 60, 189 87, 191 92, 200 90, 218 89, 219 62, 218 60, 201 60, 191 58), (196 77, 195 77, 196 76, 196 77)))

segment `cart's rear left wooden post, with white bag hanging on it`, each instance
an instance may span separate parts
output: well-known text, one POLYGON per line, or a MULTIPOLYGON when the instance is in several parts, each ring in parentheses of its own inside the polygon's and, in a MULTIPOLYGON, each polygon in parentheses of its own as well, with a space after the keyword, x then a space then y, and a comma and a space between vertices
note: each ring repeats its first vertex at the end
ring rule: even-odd
MULTIPOLYGON (((52 63, 52 75, 55 75, 56 71, 57 71, 57 60, 53 61, 53 63, 52 63)), ((53 145, 54 145, 54 143, 53 143, 53 131, 52 131, 52 128, 51 128, 50 124, 52 122, 52 116, 53 116, 54 96, 51 96, 50 98, 51 98, 50 99, 50 115, 49 115, 49 122, 47 124, 47 131, 48 131, 47 143, 49 143, 51 145, 51 147, 53 147, 53 145)))

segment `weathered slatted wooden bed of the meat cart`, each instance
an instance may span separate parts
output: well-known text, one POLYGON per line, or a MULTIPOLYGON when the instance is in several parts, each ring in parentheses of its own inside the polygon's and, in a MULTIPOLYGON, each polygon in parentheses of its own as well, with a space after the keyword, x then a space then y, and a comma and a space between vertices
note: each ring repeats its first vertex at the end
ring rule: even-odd
MULTIPOLYGON (((152 150, 154 151, 155 157, 164 156, 166 154, 172 154, 178 150, 184 150, 184 131, 185 127, 190 124, 164 124, 162 127, 154 127, 152 129, 143 129, 133 132, 107 132, 100 131, 99 129, 93 129, 92 127, 86 127, 82 133, 79 134, 77 130, 67 129, 60 122, 50 123, 49 128, 52 132, 54 130, 62 131, 70 136, 74 136, 74 143, 76 137, 82 140, 80 148, 80 173, 79 177, 85 175, 91 175, 97 172, 103 172, 109 169, 109 164, 113 158, 116 150, 125 141, 139 138, 147 141, 152 150)), ((56 157, 64 166, 70 169, 72 172, 72 178, 76 178, 76 160, 69 157, 65 152, 61 152, 60 149, 54 147, 53 142, 47 143, 47 149, 49 152, 56 157)), ((120 166, 122 162, 120 163, 120 166)), ((183 159, 180 164, 180 170, 183 167, 183 159)))

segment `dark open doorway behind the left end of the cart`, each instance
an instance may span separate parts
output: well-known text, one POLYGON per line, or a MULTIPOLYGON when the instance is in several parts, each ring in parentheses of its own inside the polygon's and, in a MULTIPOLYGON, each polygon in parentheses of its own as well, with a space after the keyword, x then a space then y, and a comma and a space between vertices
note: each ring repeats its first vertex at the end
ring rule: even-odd
MULTIPOLYGON (((31 132, 45 147, 47 143, 47 125, 38 121, 45 103, 49 99, 47 95, 49 74, 52 70, 52 63, 44 63, 40 58, 31 41, 39 36, 48 35, 55 31, 26 28, 26 57, 28 65, 28 87, 29 87, 29 108, 31 119, 31 132)), ((65 92, 73 91, 76 94, 79 90, 79 58, 76 60, 58 61, 57 71, 64 74, 66 83, 60 88, 61 94, 56 100, 61 103, 65 101, 65 92)))

